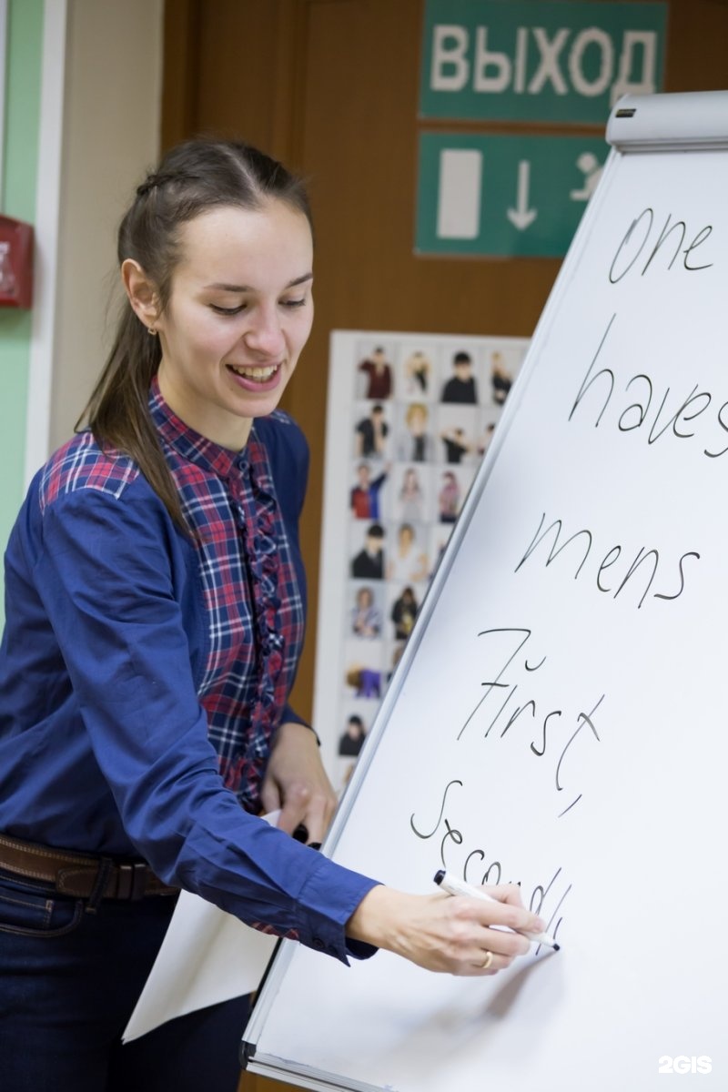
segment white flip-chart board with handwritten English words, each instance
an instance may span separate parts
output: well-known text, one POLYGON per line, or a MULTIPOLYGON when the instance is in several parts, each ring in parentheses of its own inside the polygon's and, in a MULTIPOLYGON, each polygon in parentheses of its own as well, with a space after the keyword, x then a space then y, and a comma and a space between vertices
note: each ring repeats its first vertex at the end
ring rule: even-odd
POLYGON ((561 951, 458 980, 286 942, 254 1072, 726 1087, 728 94, 626 97, 607 134, 325 845, 413 892, 442 867, 520 882, 561 951))

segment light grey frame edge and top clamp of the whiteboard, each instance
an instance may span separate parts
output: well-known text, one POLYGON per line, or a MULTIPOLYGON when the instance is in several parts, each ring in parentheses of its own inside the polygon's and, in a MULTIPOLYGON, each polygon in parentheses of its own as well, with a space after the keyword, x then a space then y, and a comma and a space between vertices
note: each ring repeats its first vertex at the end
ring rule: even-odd
MULTIPOLYGON (((397 697, 417 656, 428 621, 447 581, 458 549, 467 535, 473 515, 480 503, 480 498, 496 464, 496 460, 499 458, 528 383, 535 372, 541 352, 541 344, 548 337, 549 329, 561 307, 562 297, 574 273, 580 268, 582 256, 592 236, 593 225, 598 219, 601 209, 608 199, 612 180, 617 175, 622 157, 629 154, 648 153, 649 151, 657 150, 700 152, 728 149, 728 92, 624 96, 616 104, 612 110, 607 127, 607 139, 612 147, 605 164, 601 178, 585 210, 566 257, 557 275, 553 288, 534 331, 523 366, 509 395, 493 441, 473 482, 463 511, 420 607, 415 628, 405 645, 403 656, 394 672, 392 682, 372 724, 367 745, 362 750, 361 757, 341 800, 329 835, 323 843, 322 853, 325 856, 331 857, 334 855, 359 788, 367 776, 377 747, 386 729, 397 697), (634 120, 635 118, 636 121, 634 120)), ((249 1069, 253 1073, 279 1080, 295 1079, 296 1083, 301 1088, 313 1090, 313 1092, 332 1092, 332 1090, 337 1090, 337 1092, 387 1092, 386 1089, 379 1085, 363 1084, 344 1075, 330 1073, 302 1065, 297 1067, 295 1061, 290 1059, 278 1058, 270 1054, 259 1055, 256 1053, 255 1044, 262 1033, 265 1020, 275 1004, 278 988, 297 948, 298 945, 295 941, 282 941, 271 963, 244 1031, 246 1037, 241 1044, 241 1063, 243 1068, 249 1069)))

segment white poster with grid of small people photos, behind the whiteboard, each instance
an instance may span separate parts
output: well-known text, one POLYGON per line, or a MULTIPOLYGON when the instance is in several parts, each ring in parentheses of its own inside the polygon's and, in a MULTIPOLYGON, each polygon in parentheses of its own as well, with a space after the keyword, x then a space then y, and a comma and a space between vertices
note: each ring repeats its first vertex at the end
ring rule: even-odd
POLYGON ((341 791, 528 341, 331 336, 313 724, 341 791))

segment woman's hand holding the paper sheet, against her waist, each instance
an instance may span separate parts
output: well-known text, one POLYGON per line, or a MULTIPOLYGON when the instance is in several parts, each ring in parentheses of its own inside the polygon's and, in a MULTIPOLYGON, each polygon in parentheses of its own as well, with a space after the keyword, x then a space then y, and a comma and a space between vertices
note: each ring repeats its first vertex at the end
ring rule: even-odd
POLYGON ((261 787, 261 803, 264 811, 281 808, 281 830, 293 834, 303 824, 307 842, 323 842, 338 802, 321 763, 317 737, 305 724, 288 721, 278 728, 261 787))

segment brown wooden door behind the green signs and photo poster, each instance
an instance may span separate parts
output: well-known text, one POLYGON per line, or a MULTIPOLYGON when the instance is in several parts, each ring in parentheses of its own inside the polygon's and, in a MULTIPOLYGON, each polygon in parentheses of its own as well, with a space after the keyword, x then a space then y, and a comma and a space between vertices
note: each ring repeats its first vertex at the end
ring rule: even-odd
MULTIPOLYGON (((668 9, 666 90, 727 86, 728 3, 670 0, 668 9)), ((168 0, 166 9, 164 145, 203 132, 239 136, 309 179, 317 319, 284 403, 312 451, 302 522, 311 614, 295 695, 305 715, 313 689, 330 332, 528 336, 559 266, 553 259, 414 254, 422 13, 423 0, 168 0)), ((247 1075, 241 1087, 287 1085, 247 1075)))

